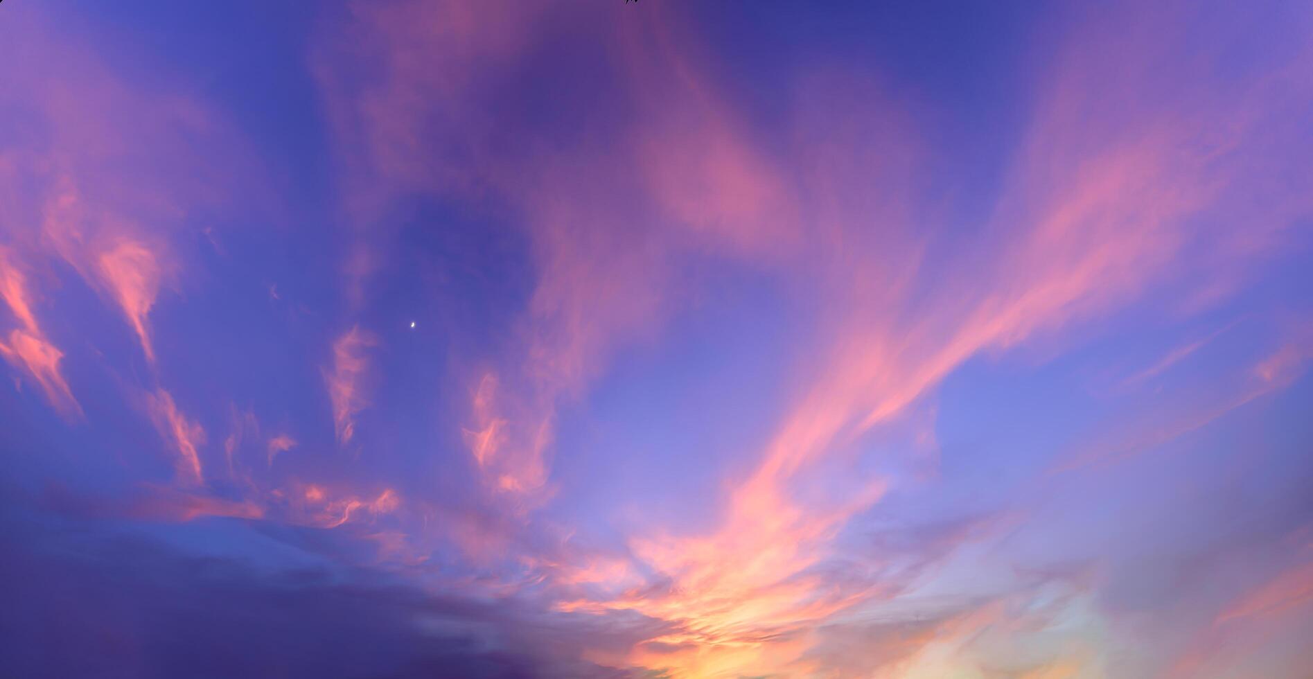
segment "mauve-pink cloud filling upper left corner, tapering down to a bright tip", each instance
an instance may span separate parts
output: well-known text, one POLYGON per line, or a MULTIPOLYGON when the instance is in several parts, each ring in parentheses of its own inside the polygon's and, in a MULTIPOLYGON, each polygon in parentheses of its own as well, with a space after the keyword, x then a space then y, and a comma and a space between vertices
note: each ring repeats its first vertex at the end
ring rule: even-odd
MULTIPOLYGON (((0 87, 14 120, 33 125, 0 152, 0 236, 33 263, 72 267, 118 307, 154 364, 148 315, 161 285, 184 269, 175 246, 186 243, 197 214, 260 171, 243 139, 185 87, 142 85, 97 49, 112 37, 75 14, 24 8, 7 22, 37 38, 9 41, 5 59, 42 68, 7 72, 0 87)), ((259 181, 242 189, 243 204, 268 202, 259 181)))

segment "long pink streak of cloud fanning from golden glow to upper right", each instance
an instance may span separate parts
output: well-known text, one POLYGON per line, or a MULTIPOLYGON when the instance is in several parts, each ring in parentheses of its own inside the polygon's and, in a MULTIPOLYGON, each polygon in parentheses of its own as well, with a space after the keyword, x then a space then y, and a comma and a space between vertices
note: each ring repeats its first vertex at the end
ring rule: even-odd
MULTIPOLYGON (((853 603, 835 598, 832 609, 815 607, 813 598, 823 592, 823 580, 809 583, 798 575, 819 558, 823 552, 818 550, 838 527, 876 502, 881 481, 871 481, 869 495, 859 491, 836 507, 804 507, 789 499, 804 474, 890 422, 973 356, 1088 322, 1179 274, 1182 253, 1199 238, 1192 225, 1201 210, 1225 206, 1251 183, 1262 181, 1258 177, 1279 176, 1288 167, 1291 156, 1263 163, 1253 151, 1263 148, 1271 133, 1249 117, 1254 97, 1267 97, 1272 110, 1284 116, 1297 110, 1262 84, 1250 96, 1230 99, 1201 92, 1213 102, 1205 116, 1163 97, 1155 100, 1157 108, 1128 101, 1138 116, 1113 116, 1120 125, 1085 125, 1087 118, 1077 112, 1086 101, 1104 97, 1094 104, 1103 106, 1141 92, 1123 91, 1125 83, 1104 92, 1100 74, 1117 68, 1121 59, 1163 58, 1145 42, 1117 53, 1109 63, 1085 60, 1083 41, 1103 37, 1077 35, 1065 47, 1074 56, 1058 60, 1048 91, 1052 99, 1041 97, 998 211, 985 226, 983 232, 998 244, 973 250, 973 256, 983 255, 983 267, 960 269, 972 272, 970 277, 936 277, 934 292, 916 299, 914 309, 897 285, 878 278, 882 289, 871 290, 869 298, 827 292, 827 299, 874 298, 894 309, 906 306, 906 313, 834 310, 840 319, 830 332, 834 345, 819 349, 823 359, 813 383, 777 427, 760 464, 734 486, 722 525, 660 549, 647 538, 634 541, 641 559, 676 582, 672 600, 656 599, 646 611, 687 615, 704 633, 727 632, 699 637, 704 654, 721 649, 744 657, 744 644, 769 638, 763 634, 773 632, 772 613, 801 623, 794 629, 806 629, 815 624, 813 612, 819 620, 853 603), (1208 147, 1204 139, 1218 146, 1208 147), (1217 154, 1232 158, 1220 163, 1217 154), (705 586, 714 594, 706 594, 705 586)), ((1137 84, 1145 92, 1153 88, 1148 81, 1137 84)), ((1301 97, 1309 100, 1306 88, 1301 97)), ((1275 201, 1259 218, 1262 229, 1287 227, 1299 214, 1292 209, 1297 201, 1295 194, 1275 201)), ((844 218, 850 229, 865 223, 856 214, 844 218)), ((907 261, 915 265, 913 255, 907 261)), ((1234 256, 1253 256, 1253 251, 1234 256)), ((861 281, 863 265, 853 265, 857 269, 848 280, 861 281)), ((826 273, 843 280, 842 274, 843 269, 836 273, 834 268, 826 273)), ((919 274, 913 273, 913 280, 919 274)), ((855 600, 860 599, 859 594, 855 600)), ((700 662, 709 661, 702 655, 700 662)))

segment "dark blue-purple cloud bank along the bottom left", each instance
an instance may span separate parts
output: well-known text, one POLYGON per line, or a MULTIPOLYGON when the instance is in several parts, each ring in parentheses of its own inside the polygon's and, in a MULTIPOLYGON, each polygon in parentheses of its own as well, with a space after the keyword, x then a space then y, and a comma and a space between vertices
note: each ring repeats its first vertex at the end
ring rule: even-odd
POLYGON ((95 521, 0 529, 0 676, 629 676, 578 658, 656 626, 435 596, 373 571, 270 574, 95 521))

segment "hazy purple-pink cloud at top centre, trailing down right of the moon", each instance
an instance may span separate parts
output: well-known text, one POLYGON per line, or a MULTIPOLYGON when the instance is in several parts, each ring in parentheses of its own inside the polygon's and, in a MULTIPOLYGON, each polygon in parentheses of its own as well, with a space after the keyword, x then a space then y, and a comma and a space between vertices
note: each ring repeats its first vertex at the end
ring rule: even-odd
POLYGON ((377 214, 414 193, 471 198, 486 186, 524 221, 538 281, 516 328, 519 347, 474 378, 481 401, 465 429, 488 487, 530 504, 549 493, 557 408, 578 398, 618 347, 662 326, 668 289, 678 288, 671 256, 704 247, 746 257, 786 251, 793 227, 781 217, 784 180, 679 55, 678 30, 666 26, 672 16, 656 17, 653 30, 632 25, 614 34, 579 16, 590 49, 629 75, 608 84, 614 101, 601 105, 646 101, 650 117, 599 127, 597 142, 582 148, 498 152, 500 133, 486 112, 533 49, 541 11, 357 5, 314 55, 348 204, 377 214), (355 47, 339 49, 345 43, 355 47), (345 59, 377 77, 355 77, 345 59), (614 190, 599 193, 604 185, 614 190))

